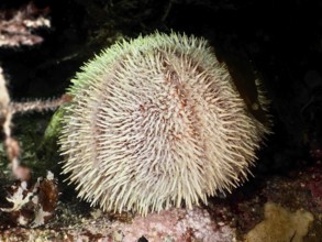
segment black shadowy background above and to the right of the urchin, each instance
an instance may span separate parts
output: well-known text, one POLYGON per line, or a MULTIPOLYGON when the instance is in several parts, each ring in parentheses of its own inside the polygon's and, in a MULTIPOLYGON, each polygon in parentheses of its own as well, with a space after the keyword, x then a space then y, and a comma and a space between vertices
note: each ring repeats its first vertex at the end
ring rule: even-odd
MULTIPOLYGON (((30 1, 1 0, 0 11, 30 1)), ((34 46, 0 47, 13 100, 59 97, 84 62, 120 37, 155 30, 203 36, 219 58, 260 77, 274 134, 255 173, 286 173, 321 158, 322 3, 277 0, 65 0, 48 8, 52 28, 34 46), (234 61, 232 61, 234 59, 234 61), (244 69, 244 64, 248 67, 244 69)))

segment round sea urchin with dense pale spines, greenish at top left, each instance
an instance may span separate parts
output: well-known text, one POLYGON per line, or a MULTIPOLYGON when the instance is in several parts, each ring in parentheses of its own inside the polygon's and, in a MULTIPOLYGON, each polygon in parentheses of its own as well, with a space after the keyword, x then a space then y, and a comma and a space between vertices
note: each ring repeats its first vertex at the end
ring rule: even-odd
POLYGON ((82 67, 68 94, 64 173, 104 210, 207 204, 246 178, 268 132, 208 42, 193 36, 114 44, 82 67))

